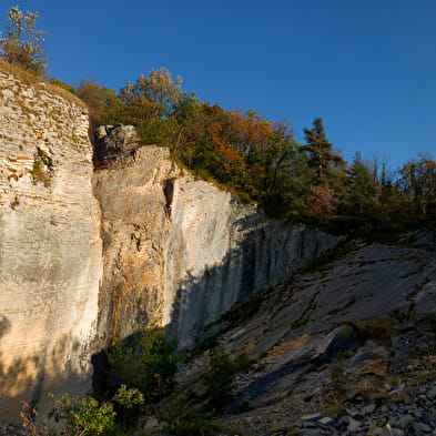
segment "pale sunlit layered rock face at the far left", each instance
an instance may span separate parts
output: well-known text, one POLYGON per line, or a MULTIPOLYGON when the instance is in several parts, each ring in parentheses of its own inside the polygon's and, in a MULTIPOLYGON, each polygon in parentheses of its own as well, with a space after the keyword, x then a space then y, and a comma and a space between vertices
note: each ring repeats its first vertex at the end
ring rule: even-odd
POLYGON ((102 276, 87 110, 0 64, 0 410, 90 387, 102 276))

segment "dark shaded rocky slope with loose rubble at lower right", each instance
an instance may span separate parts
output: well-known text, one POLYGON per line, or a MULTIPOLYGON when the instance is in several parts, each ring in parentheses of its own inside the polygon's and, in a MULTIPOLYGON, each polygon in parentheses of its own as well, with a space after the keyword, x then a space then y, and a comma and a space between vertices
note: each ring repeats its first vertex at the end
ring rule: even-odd
MULTIPOLYGON (((428 232, 351 241, 226 314, 216 341, 242 369, 224 423, 277 435, 435 434, 435 264, 428 232)), ((182 367, 186 404, 202 402, 207 361, 204 352, 182 367)))

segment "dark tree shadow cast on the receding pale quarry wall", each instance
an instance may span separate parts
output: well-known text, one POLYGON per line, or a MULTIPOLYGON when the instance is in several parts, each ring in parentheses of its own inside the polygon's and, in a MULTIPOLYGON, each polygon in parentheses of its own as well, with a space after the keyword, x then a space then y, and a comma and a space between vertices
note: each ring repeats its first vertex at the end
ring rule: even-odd
MULTIPOLYGON (((244 237, 220 264, 204 264, 202 273, 186 271, 176 283, 168 331, 180 346, 204 338, 203 328, 235 305, 285 280, 337 244, 335 236, 278 221, 234 224, 244 237)), ((207 335, 214 332, 209 332, 207 335)))

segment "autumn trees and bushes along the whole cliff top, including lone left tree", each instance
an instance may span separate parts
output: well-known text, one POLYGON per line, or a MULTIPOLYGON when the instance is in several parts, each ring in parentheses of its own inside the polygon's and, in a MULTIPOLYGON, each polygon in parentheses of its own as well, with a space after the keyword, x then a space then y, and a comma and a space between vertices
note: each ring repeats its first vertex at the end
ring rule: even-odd
MULTIPOLYGON (((43 72, 44 32, 36 29, 37 17, 18 7, 10 10, 7 36, 0 39, 0 58, 10 68, 43 72)), ((271 216, 365 233, 436 223, 436 162, 429 154, 396 171, 358 152, 345 162, 321 118, 304 130, 305 144, 300 144, 290 124, 201 101, 182 91, 182 80, 173 80, 164 68, 128 82, 120 92, 92 80, 75 89, 57 79, 51 83, 57 92, 74 93, 87 103, 92 128, 132 124, 144 144, 169 146, 194 174, 257 202, 271 216)))

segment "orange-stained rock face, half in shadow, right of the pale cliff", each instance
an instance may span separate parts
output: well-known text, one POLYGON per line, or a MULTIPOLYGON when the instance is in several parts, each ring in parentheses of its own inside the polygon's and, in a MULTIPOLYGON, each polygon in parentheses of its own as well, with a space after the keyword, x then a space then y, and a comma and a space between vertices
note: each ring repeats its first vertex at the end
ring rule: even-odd
POLYGON ((132 138, 123 129, 101 136, 100 150, 110 150, 111 161, 95 176, 104 242, 99 332, 105 341, 156 322, 180 345, 192 344, 235 303, 337 243, 268 220, 255 205, 184 174, 166 149, 123 145, 120 139, 132 138))

